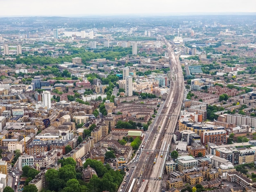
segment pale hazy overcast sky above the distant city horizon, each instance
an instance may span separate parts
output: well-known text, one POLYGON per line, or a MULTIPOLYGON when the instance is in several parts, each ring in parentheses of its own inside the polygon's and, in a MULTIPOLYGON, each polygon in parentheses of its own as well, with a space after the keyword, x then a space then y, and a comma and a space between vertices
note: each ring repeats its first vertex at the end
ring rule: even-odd
POLYGON ((0 17, 256 12, 256 0, 0 0, 0 17))

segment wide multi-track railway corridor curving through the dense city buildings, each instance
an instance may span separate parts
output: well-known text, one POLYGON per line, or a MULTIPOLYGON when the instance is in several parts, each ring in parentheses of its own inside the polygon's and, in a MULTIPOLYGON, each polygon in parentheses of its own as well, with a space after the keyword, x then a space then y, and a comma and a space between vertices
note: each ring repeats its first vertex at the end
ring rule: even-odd
POLYGON ((179 56, 172 50, 172 45, 163 39, 170 59, 170 79, 168 96, 159 115, 152 124, 152 130, 144 145, 138 163, 130 177, 125 192, 162 191, 164 164, 169 154, 173 133, 180 115, 184 96, 184 78, 179 56), (155 162, 155 163, 154 163, 155 162))

